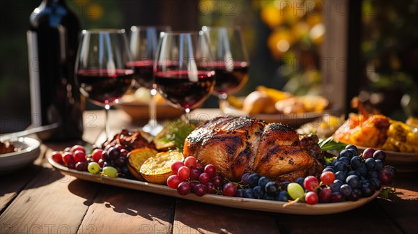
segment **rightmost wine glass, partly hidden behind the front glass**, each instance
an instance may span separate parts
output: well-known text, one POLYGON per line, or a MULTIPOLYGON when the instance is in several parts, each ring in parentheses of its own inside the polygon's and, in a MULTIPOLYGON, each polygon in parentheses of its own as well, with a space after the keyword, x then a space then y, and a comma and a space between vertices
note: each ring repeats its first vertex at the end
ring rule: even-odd
POLYGON ((247 83, 249 60, 241 30, 238 26, 203 26, 214 56, 216 84, 213 94, 219 98, 219 107, 228 94, 235 93, 247 83))

